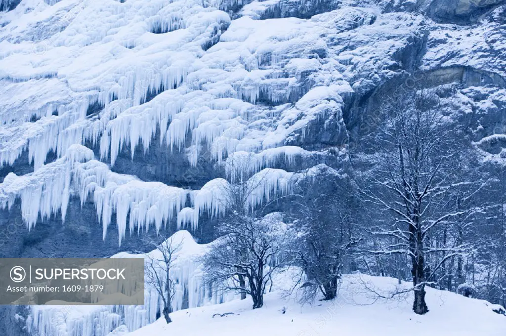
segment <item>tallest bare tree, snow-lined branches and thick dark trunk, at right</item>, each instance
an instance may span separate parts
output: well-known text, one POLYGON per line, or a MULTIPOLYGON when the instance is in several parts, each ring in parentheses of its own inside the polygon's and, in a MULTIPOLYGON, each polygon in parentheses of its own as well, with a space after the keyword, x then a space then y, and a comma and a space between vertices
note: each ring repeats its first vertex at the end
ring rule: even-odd
POLYGON ((470 250, 463 242, 451 247, 433 244, 441 226, 467 222, 476 208, 457 199, 462 187, 472 181, 458 174, 458 162, 465 156, 461 130, 451 127, 440 99, 432 90, 412 90, 385 99, 377 131, 364 155, 370 164, 362 190, 372 203, 373 230, 383 237, 371 250, 377 255, 404 255, 411 261, 413 311, 425 314, 425 286, 432 284, 446 260, 470 250), (379 220, 380 213, 387 215, 379 220), (429 258, 441 256, 430 268, 429 258))

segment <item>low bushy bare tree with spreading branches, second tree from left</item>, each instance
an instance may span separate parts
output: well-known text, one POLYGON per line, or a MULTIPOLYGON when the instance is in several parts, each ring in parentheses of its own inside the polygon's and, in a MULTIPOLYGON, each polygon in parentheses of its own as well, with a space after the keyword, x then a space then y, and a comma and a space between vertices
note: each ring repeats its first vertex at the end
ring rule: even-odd
POLYGON ((287 228, 279 214, 263 219, 237 216, 222 223, 223 234, 203 257, 205 279, 218 291, 250 296, 253 309, 264 305, 264 293, 272 276, 286 265, 287 228))

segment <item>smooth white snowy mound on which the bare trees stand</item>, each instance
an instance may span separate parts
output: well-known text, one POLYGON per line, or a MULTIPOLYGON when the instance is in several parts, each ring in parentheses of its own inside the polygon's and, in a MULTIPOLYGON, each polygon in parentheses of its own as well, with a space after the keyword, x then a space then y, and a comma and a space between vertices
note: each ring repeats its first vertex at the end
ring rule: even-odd
MULTIPOLYGON (((301 307, 293 300, 281 299, 278 291, 266 296, 261 309, 251 310, 249 300, 234 300, 181 310, 172 314, 171 324, 161 318, 125 335, 503 336, 506 332, 506 316, 494 313, 492 305, 485 301, 428 288, 430 311, 420 316, 411 310, 412 293, 385 300, 378 299, 366 287, 388 295, 397 288, 397 281, 350 275, 333 302, 316 301, 312 306, 301 307), (215 315, 225 313, 233 314, 215 315)), ((116 334, 123 333, 118 330, 116 334)))

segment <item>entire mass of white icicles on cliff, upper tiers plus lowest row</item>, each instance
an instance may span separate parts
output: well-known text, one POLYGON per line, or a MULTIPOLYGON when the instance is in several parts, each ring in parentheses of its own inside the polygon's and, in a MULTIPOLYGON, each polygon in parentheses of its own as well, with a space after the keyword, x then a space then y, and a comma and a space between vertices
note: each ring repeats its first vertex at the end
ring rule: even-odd
POLYGON ((64 221, 70 199, 78 196, 81 204, 94 202, 104 239, 116 222, 121 243, 128 231, 160 230, 172 220, 178 229, 195 230, 202 215, 223 215, 223 191, 238 180, 256 186, 248 208, 289 193, 294 174, 274 168, 311 153, 282 146, 287 136, 304 136, 301 130, 313 119, 339 116, 340 95, 351 88, 342 82, 310 89, 299 82, 302 73, 321 67, 320 60, 307 61, 314 38, 299 33, 315 23, 290 23, 286 31, 258 40, 257 32, 265 33, 262 22, 245 18, 229 27, 229 15, 217 8, 235 0, 225 7, 222 3, 202 8, 197 0, 90 2, 87 6, 96 10, 77 6, 83 13, 67 17, 68 28, 52 37, 48 53, 38 55, 37 62, 21 66, 34 57, 31 49, 24 54, 24 45, 19 47, 24 58, 6 54, 2 61, 10 66, 2 79, 7 87, 36 92, 37 99, 14 99, 0 113, 0 122, 9 125, 0 135, 0 167, 14 165, 25 151, 34 166, 33 173, 11 173, 0 184, 0 208, 12 209, 19 201, 30 230, 51 216, 64 221), (103 23, 103 29, 89 26, 90 20, 103 23), (246 40, 238 34, 244 29, 246 40), (132 40, 124 39, 126 30, 132 40), (204 51, 202 46, 217 34, 223 34, 220 43, 204 51), (106 37, 117 48, 104 60, 107 71, 100 75, 86 68, 88 62, 69 64, 64 57, 62 47, 79 47, 69 57, 86 55, 106 37), (131 42, 132 49, 124 47, 131 42), (293 99, 298 103, 284 104, 293 99), (184 151, 194 166, 202 153, 209 153, 210 160, 224 163, 228 181, 215 179, 200 190, 186 190, 116 174, 101 162, 113 166, 125 149, 132 158, 137 147, 147 152, 157 136, 168 152, 184 151), (100 148, 100 158, 84 145, 100 148), (57 159, 47 163, 51 152, 57 159))

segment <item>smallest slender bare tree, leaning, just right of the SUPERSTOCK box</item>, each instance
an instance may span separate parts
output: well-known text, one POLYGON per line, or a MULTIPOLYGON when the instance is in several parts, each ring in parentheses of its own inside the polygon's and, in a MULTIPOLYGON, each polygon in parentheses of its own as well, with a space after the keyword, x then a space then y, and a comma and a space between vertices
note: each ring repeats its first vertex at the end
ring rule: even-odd
POLYGON ((178 243, 174 239, 164 239, 158 244, 154 239, 146 242, 155 249, 146 255, 146 284, 147 288, 155 289, 163 302, 162 315, 167 323, 171 323, 172 303, 176 295, 174 280, 171 278, 171 269, 177 259, 177 252, 181 249, 183 241, 178 243))

